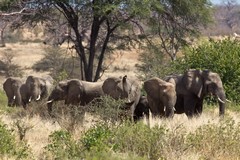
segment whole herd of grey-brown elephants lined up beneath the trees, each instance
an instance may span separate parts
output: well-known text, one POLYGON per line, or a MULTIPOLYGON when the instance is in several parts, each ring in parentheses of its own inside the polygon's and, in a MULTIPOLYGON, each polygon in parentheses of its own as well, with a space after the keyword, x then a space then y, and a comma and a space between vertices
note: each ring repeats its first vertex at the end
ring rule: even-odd
POLYGON ((214 95, 219 103, 219 114, 224 115, 226 96, 220 76, 208 70, 190 69, 183 74, 170 75, 163 79, 153 77, 143 82, 127 77, 109 77, 100 82, 79 79, 63 80, 53 85, 49 76, 40 78, 28 76, 25 82, 9 77, 3 83, 8 97, 8 106, 23 106, 31 101, 45 100, 48 112, 53 103, 64 101, 66 105, 87 105, 103 95, 114 99, 125 99, 126 108, 131 111, 132 120, 144 115, 172 118, 174 114, 185 113, 188 118, 202 113, 203 99, 214 95), (146 96, 142 94, 144 89, 146 96))

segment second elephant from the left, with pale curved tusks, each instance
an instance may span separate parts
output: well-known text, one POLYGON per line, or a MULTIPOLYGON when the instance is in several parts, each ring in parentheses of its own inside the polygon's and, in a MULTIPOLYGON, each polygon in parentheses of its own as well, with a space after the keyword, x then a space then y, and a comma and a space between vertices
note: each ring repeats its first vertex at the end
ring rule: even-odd
POLYGON ((39 101, 47 98, 52 86, 53 78, 51 76, 45 78, 28 76, 25 83, 20 87, 23 107, 26 108, 26 105, 32 100, 39 101))

